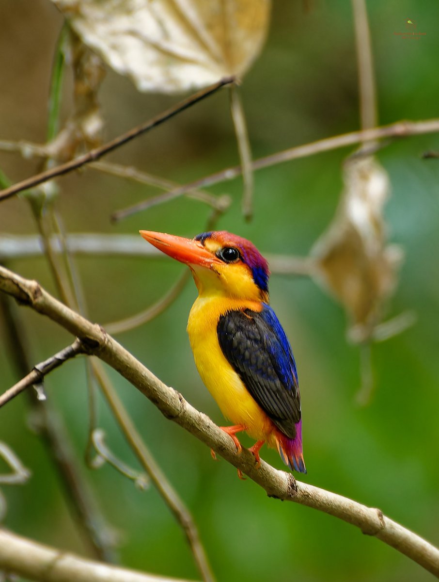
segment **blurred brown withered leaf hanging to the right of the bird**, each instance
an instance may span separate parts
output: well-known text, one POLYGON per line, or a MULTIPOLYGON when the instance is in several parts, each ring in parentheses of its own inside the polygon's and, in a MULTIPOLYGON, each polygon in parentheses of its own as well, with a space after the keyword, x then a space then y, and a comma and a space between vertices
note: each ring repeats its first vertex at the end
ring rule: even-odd
POLYGON ((399 247, 386 244, 387 172, 372 156, 349 158, 343 172, 345 186, 336 216, 312 255, 317 281, 347 310, 350 339, 363 342, 380 322, 403 254, 399 247))

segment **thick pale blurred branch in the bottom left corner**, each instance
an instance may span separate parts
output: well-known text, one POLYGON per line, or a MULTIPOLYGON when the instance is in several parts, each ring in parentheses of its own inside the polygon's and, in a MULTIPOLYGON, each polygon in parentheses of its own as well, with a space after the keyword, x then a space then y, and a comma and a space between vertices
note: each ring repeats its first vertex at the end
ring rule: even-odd
POLYGON ((37 582, 188 582, 92 562, 0 530, 0 569, 37 582))

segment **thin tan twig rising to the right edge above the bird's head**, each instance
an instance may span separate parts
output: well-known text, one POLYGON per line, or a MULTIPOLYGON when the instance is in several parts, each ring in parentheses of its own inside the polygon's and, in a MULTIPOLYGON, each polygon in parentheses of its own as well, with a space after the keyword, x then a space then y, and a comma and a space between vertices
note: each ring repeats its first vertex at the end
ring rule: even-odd
MULTIPOLYGON (((355 145, 357 143, 362 143, 363 141, 383 139, 386 137, 406 137, 435 132, 439 132, 439 119, 428 119, 416 122, 399 121, 383 127, 374 127, 373 129, 365 129, 358 132, 344 133, 340 136, 327 137, 323 140, 312 141, 309 144, 298 145, 297 147, 292 147, 288 150, 277 152, 276 154, 270 154, 252 162, 252 169, 255 171, 262 168, 268 168, 276 164, 291 161, 292 159, 306 158, 310 155, 337 150, 338 148, 348 147, 348 145, 355 145)), ((234 180, 240 176, 241 173, 241 166, 226 168, 220 172, 216 172, 210 176, 205 176, 205 178, 194 180, 194 182, 190 182, 180 188, 170 191, 166 194, 166 200, 174 200, 174 198, 183 196, 187 191, 194 188, 206 188, 208 186, 213 186, 213 184, 234 180)), ((130 208, 119 210, 113 214, 113 217, 116 219, 129 217, 130 215, 135 214, 135 212, 144 210, 147 202, 148 201, 144 201, 135 204, 130 208)))

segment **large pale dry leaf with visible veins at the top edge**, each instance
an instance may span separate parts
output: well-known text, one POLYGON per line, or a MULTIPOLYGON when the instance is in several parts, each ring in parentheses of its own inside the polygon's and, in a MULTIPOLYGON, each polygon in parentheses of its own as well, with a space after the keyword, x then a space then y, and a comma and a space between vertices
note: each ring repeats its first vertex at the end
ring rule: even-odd
POLYGON ((141 91, 241 76, 258 55, 270 0, 52 0, 81 40, 141 91))

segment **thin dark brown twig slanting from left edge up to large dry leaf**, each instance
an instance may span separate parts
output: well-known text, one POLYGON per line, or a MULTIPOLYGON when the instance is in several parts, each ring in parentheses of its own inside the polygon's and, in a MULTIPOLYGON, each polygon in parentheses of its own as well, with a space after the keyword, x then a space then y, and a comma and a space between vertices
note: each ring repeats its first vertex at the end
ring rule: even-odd
POLYGON ((52 178, 56 178, 56 176, 62 176, 68 172, 72 172, 72 170, 76 170, 85 164, 89 164, 90 162, 96 161, 97 159, 101 158, 103 155, 108 154, 110 151, 119 148, 121 145, 126 144, 127 142, 133 140, 135 137, 140 136, 142 133, 147 132, 148 130, 152 129, 160 125, 160 123, 165 122, 167 119, 172 118, 177 113, 184 111, 191 105, 198 103, 199 101, 205 99, 209 95, 215 93, 219 88, 224 87, 224 85, 228 85, 233 83, 235 80, 234 77, 224 77, 217 83, 202 89, 201 91, 197 91, 188 97, 184 101, 181 101, 179 104, 174 105, 172 108, 167 109, 165 112, 160 113, 160 115, 155 116, 154 118, 150 119, 146 123, 142 123, 133 129, 130 129, 129 132, 122 134, 122 136, 116 137, 115 139, 109 141, 108 143, 101 145, 101 147, 95 148, 94 150, 90 150, 87 154, 80 155, 77 158, 72 159, 66 164, 61 164, 59 166, 55 166, 54 168, 50 168, 45 172, 41 172, 36 176, 31 176, 31 178, 27 178, 26 180, 22 180, 13 186, 6 188, 5 190, 0 191, 0 201, 6 200, 6 198, 10 198, 21 192, 22 190, 27 190, 28 188, 33 188, 38 186, 38 184, 42 184, 43 182, 47 182, 47 180, 51 180, 52 178))

